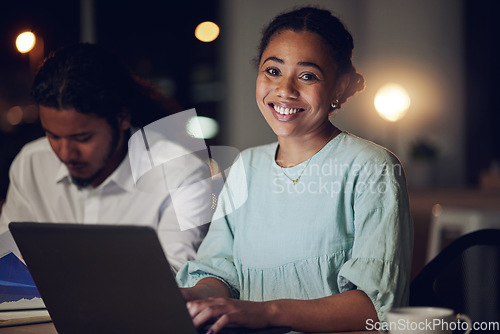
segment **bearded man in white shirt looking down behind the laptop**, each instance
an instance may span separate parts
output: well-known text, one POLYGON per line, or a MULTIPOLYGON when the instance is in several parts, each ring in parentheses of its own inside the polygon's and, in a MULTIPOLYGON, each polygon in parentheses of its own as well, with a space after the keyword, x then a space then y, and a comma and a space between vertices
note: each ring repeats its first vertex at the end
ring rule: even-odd
MULTIPOLYGON (((169 193, 136 187, 127 154, 133 131, 178 110, 91 44, 50 55, 34 79, 32 96, 46 137, 27 144, 11 165, 0 234, 12 221, 148 225, 158 231, 174 269, 193 259, 206 226, 181 229, 169 193)), ((176 143, 170 147, 183 150, 176 143)), ((210 177, 199 162, 180 166, 191 183, 210 177)), ((180 178, 175 187, 183 182, 180 178)), ((182 219, 196 221, 211 193, 192 187, 191 192, 183 196, 181 211, 188 216, 182 219)))

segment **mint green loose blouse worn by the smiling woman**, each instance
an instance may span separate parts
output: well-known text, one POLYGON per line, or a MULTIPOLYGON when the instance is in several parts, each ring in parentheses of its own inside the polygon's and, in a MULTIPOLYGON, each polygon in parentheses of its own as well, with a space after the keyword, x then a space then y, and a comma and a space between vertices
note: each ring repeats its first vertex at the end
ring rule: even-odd
POLYGON ((217 277, 234 298, 252 301, 360 289, 381 320, 406 305, 413 229, 398 159, 344 131, 309 164, 282 170, 277 145, 241 153, 219 197, 220 218, 178 272, 180 286, 217 277))

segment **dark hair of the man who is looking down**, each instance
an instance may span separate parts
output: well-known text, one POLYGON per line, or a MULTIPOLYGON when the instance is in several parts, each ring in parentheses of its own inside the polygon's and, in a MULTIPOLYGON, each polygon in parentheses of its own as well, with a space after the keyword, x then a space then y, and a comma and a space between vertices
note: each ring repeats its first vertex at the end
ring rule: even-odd
POLYGON ((51 53, 36 74, 31 95, 42 106, 74 108, 114 125, 130 116, 143 127, 179 111, 173 101, 131 74, 112 53, 98 45, 79 43, 51 53))

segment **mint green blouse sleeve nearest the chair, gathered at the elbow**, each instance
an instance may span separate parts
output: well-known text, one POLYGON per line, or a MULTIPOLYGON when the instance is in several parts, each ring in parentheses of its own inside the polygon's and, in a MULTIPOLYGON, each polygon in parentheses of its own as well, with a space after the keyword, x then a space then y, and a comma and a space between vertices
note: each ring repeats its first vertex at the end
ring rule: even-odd
POLYGON ((403 168, 387 153, 363 164, 353 194, 352 257, 340 269, 339 291, 359 289, 378 317, 408 304, 413 228, 403 168))

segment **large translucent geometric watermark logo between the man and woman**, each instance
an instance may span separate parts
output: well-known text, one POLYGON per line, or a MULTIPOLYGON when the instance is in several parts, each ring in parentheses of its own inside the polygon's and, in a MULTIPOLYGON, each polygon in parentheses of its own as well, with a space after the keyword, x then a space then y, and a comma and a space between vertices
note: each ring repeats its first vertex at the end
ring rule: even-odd
MULTIPOLYGON (((139 191, 169 198, 182 231, 216 219, 217 199, 230 169, 244 168, 239 151, 229 146, 208 147, 195 109, 185 110, 153 122, 132 134, 129 160, 139 191)), ((226 214, 246 201, 246 183, 231 196, 226 185, 226 214)))

